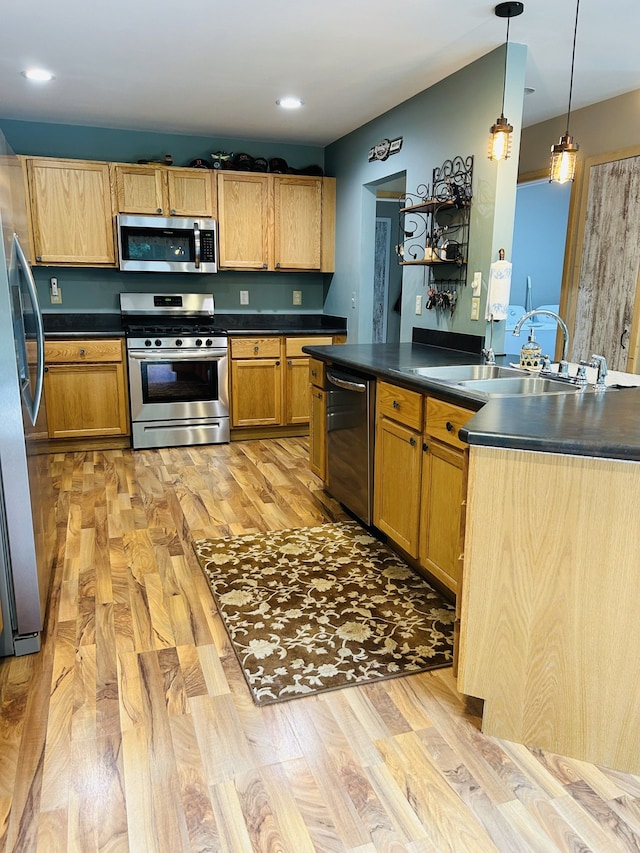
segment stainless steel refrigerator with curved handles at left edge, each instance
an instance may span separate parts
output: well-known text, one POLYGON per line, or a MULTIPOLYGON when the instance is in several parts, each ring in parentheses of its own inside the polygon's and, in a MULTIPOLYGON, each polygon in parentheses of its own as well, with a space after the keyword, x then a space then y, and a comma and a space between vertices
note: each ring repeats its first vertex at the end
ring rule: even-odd
POLYGON ((0 655, 40 648, 55 544, 44 334, 26 222, 20 162, 0 133, 0 655))

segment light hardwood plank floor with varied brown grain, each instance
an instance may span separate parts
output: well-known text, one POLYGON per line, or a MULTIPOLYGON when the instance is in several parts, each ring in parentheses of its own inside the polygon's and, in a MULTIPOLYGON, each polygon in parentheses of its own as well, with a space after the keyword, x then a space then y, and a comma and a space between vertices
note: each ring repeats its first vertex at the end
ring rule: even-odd
POLYGON ((43 650, 0 662, 0 850, 640 850, 639 778, 483 736, 451 670, 253 705, 190 537, 344 518, 307 453, 54 457, 43 650))

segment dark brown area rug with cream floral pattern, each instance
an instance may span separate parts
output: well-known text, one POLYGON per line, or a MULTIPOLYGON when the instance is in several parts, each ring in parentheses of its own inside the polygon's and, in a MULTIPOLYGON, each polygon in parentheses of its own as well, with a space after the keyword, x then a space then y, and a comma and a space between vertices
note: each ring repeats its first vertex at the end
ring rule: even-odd
POLYGON ((454 608, 356 522, 194 548, 259 705, 452 663, 454 608))

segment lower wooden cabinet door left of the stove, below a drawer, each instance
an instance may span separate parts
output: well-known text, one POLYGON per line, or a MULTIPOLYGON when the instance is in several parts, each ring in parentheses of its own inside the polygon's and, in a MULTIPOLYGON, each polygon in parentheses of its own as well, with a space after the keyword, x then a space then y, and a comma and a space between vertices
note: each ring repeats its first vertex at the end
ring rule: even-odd
POLYGON ((45 397, 49 438, 129 434, 122 363, 51 364, 45 397))

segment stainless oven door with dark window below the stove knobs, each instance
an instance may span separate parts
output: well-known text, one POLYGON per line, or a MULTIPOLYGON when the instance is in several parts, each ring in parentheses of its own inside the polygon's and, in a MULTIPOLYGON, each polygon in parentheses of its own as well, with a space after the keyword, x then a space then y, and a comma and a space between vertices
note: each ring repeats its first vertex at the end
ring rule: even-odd
POLYGON ((130 350, 129 391, 133 422, 227 417, 227 349, 130 350))

